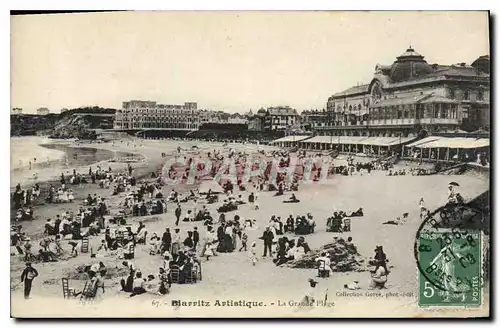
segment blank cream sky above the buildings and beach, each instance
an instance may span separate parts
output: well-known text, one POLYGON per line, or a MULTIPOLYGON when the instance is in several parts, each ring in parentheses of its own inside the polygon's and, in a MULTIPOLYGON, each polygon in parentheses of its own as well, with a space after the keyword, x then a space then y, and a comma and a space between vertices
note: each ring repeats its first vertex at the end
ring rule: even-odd
POLYGON ((489 54, 487 12, 115 12, 11 17, 11 107, 127 100, 246 112, 322 109, 411 46, 429 64, 489 54))

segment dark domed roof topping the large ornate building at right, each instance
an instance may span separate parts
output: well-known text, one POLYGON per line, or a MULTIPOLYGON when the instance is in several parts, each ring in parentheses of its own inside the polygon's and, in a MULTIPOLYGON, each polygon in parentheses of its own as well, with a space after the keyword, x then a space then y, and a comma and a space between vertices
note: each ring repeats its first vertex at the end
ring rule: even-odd
POLYGON ((393 82, 400 82, 420 78, 432 72, 433 69, 424 60, 424 56, 410 47, 392 64, 390 77, 393 82))

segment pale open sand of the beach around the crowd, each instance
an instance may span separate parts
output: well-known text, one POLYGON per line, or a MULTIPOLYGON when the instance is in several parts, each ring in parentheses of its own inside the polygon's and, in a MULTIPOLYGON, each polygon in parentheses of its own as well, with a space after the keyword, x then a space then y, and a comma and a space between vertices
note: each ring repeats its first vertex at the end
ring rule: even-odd
MULTIPOLYGON (((143 161, 133 164, 136 176, 143 177, 147 181, 153 181, 149 177, 151 172, 156 171, 165 161, 162 153, 172 154, 180 146, 190 149, 193 145, 198 151, 206 152, 211 149, 227 149, 232 147, 236 150, 255 152, 257 145, 229 144, 222 147, 220 143, 199 143, 196 141, 161 141, 161 140, 136 140, 133 144, 127 141, 115 141, 114 143, 102 144, 79 144, 75 147, 96 147, 120 152, 140 154, 143 161)), ((267 146, 259 146, 260 149, 272 149, 267 146)), ((113 171, 126 168, 125 163, 100 163, 113 171)), ((96 164, 91 166, 95 167, 96 164)), ((86 172, 88 166, 78 169, 86 172)), ((51 181, 57 179, 60 172, 48 172, 39 177, 39 181, 51 181)), ((119 317, 176 317, 190 314, 191 316, 270 316, 269 309, 273 307, 273 316, 387 316, 391 311, 397 312, 398 316, 419 316, 422 310, 417 308, 417 267, 413 257, 413 246, 415 234, 421 223, 419 217, 418 202, 424 197, 428 208, 437 208, 446 202, 447 185, 453 180, 460 184, 460 192, 465 200, 470 200, 484 191, 488 190, 488 180, 467 175, 462 176, 386 176, 386 172, 372 171, 371 174, 340 176, 335 175, 326 184, 303 184, 299 191, 295 192, 300 203, 282 204, 281 201, 289 196, 286 193, 281 197, 274 197, 273 192, 258 192, 259 209, 254 210, 248 204, 241 205, 235 212, 227 215, 232 218, 238 214, 242 220, 255 219, 257 228, 248 231, 249 245, 257 241, 259 260, 256 266, 252 266, 247 252, 224 253, 203 260, 203 280, 196 284, 172 285, 169 295, 157 296, 144 294, 128 299, 128 295, 120 292, 119 279, 124 275, 106 279, 106 292, 98 295, 98 300, 92 305, 84 308, 78 301, 63 300, 61 278, 74 275, 75 268, 79 265, 88 265, 102 260, 108 268, 119 267, 121 260, 114 256, 91 259, 90 254, 79 254, 76 258, 60 260, 57 263, 35 263, 39 272, 32 289, 32 299, 29 308, 25 306, 22 296, 22 284, 20 274, 24 263, 18 255, 11 256, 11 291, 12 291, 12 315, 23 316, 100 316, 119 317), (277 206, 279 203, 279 206, 277 206), (364 216, 352 219, 351 232, 343 234, 326 232, 326 220, 334 211, 353 211, 359 207, 363 208, 364 216), (408 212, 408 221, 402 226, 382 225, 383 222, 395 219, 402 213, 408 212), (368 272, 334 272, 330 278, 319 279, 318 290, 320 294, 328 294, 328 301, 335 305, 324 308, 312 309, 309 312, 297 312, 297 307, 290 305, 290 301, 300 301, 307 288, 307 279, 316 277, 315 269, 292 269, 286 266, 277 267, 271 258, 262 258, 263 245, 258 238, 272 215, 286 219, 290 214, 306 215, 311 213, 316 221, 314 234, 306 235, 305 239, 311 248, 319 248, 333 240, 334 237, 353 238, 354 244, 362 257, 368 259, 373 256, 376 245, 383 245, 391 267, 387 289, 380 295, 368 294, 369 273, 368 272), (359 281, 361 289, 358 291, 362 296, 346 296, 342 294, 344 284, 354 280, 359 281), (394 293, 391 295, 390 293, 394 293), (206 300, 212 302, 208 307, 172 307, 171 300, 196 301, 206 300), (213 306, 216 300, 246 300, 262 301, 265 305, 244 307, 217 307, 213 306), (383 299, 384 302, 380 302, 383 299), (159 304, 156 303, 159 300, 159 304), (50 302, 49 302, 50 301, 50 302), (287 303, 278 306, 278 301, 287 303), (165 305, 167 304, 167 305, 165 305), (357 306, 362 306, 362 310, 357 306), (362 311, 362 313, 359 313, 362 311)), ((140 181, 140 179, 139 179, 140 181)), ((11 182, 12 184, 13 182, 11 182)), ((192 186, 176 186, 176 189, 196 189, 192 186)), ((164 186, 162 193, 167 195, 171 186, 164 186)), ((35 220, 22 222, 23 230, 28 235, 40 236, 43 232, 43 223, 46 218, 54 217, 55 214, 66 210, 75 210, 81 206, 83 198, 88 193, 98 193, 106 197, 111 211, 117 209, 123 200, 124 194, 111 195, 111 190, 101 189, 96 185, 82 185, 75 190, 75 202, 73 204, 49 204, 35 207, 35 220)), ((253 191, 250 188, 249 191, 253 191)), ((235 194, 243 195, 247 199, 249 191, 235 194)), ((216 208, 220 203, 207 205, 214 217, 218 216, 216 208)), ((188 208, 191 202, 182 204, 188 208)), ((146 224, 149 233, 156 232, 158 235, 166 227, 174 227, 174 204, 169 203, 167 213, 162 215, 127 218, 127 223, 133 225, 142 221, 146 224)), ((203 222, 181 222, 179 227, 181 234, 192 230, 194 226, 204 231, 203 222)), ((293 235, 291 235, 293 236, 293 235)), ((91 244, 97 247, 102 235, 92 237, 91 244)), ((35 249, 37 242, 33 241, 35 249)), ((66 247, 69 247, 66 245, 66 247)), ((15 251, 15 249, 14 249, 15 251)), ((135 252, 134 264, 144 274, 157 274, 160 266, 159 256, 150 256, 147 246, 138 246, 135 252)), ((70 284, 76 288, 83 288, 82 280, 70 280, 70 284)), ((349 291, 350 292, 350 291, 349 291)), ((281 304, 281 303, 280 303, 281 304)), ((461 316, 467 316, 463 311, 461 316)), ((392 313, 395 314, 395 313, 392 313)), ((476 313, 477 314, 477 313, 476 313)))

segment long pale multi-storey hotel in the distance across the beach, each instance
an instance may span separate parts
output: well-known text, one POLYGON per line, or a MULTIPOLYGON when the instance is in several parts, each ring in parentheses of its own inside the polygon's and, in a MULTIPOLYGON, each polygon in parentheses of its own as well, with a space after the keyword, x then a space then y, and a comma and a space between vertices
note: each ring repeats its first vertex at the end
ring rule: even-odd
POLYGON ((195 102, 162 105, 156 101, 125 101, 115 113, 116 130, 197 130, 203 115, 195 102))

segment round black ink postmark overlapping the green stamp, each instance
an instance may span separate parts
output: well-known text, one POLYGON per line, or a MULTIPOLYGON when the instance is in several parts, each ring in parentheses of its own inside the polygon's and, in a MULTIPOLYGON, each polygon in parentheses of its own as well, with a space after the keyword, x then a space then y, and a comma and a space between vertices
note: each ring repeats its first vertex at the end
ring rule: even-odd
POLYGON ((483 211, 469 205, 447 204, 427 214, 415 236, 414 255, 428 283, 452 294, 483 285, 483 221, 483 211))

